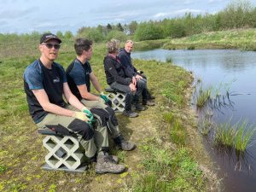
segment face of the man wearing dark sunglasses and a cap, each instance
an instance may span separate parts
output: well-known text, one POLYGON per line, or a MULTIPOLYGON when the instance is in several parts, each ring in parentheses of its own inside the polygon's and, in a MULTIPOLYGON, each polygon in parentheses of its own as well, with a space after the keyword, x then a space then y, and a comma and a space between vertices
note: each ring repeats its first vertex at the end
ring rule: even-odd
POLYGON ((55 61, 55 59, 58 57, 60 46, 61 45, 57 40, 52 39, 46 43, 40 44, 39 49, 45 58, 47 58, 49 61, 55 61))

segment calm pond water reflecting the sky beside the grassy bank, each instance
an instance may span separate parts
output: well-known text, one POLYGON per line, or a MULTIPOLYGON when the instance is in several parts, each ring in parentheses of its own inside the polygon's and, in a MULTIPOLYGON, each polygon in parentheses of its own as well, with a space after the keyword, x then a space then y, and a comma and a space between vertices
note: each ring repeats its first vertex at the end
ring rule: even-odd
MULTIPOLYGON (((246 120, 247 125, 256 126, 256 52, 236 49, 195 49, 166 50, 154 49, 137 51, 133 59, 158 61, 172 60, 177 66, 184 67, 201 79, 203 87, 226 88, 228 101, 213 111, 212 119, 216 124, 230 122, 236 124, 246 120), (228 87, 228 88, 227 88, 228 87)), ((139 68, 139 67, 138 67, 139 68)), ((147 72, 145 72, 147 73, 147 72)), ((193 104, 193 103, 192 103, 193 104)), ((216 165, 219 177, 224 178, 224 191, 256 190, 256 134, 252 146, 247 148, 244 158, 237 160, 232 152, 221 152, 213 148, 206 139, 205 147, 216 165)))

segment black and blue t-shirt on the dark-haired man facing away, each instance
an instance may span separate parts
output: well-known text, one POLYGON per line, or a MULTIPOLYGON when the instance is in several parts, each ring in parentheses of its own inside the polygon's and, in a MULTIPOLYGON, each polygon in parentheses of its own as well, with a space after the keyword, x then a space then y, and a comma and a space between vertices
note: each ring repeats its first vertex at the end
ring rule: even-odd
POLYGON ((75 59, 66 70, 67 83, 73 95, 77 96, 79 100, 82 96, 79 92, 77 85, 85 84, 87 91, 90 92, 90 73, 91 73, 90 63, 86 61, 84 64, 75 59))

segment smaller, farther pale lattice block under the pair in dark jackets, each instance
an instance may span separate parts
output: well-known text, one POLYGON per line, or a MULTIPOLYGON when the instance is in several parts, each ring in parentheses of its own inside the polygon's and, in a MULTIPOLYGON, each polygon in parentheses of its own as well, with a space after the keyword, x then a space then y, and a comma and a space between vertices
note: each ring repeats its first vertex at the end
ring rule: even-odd
POLYGON ((121 92, 108 92, 108 98, 112 102, 112 108, 115 112, 125 110, 125 94, 121 92))

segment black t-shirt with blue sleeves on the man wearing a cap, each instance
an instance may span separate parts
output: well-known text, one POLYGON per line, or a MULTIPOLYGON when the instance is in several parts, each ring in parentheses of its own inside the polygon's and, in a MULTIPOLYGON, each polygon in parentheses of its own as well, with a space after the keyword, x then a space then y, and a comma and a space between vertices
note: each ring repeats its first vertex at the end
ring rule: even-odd
POLYGON ((31 65, 26 67, 23 74, 24 90, 26 92, 26 101, 28 103, 29 112, 35 123, 44 119, 48 113, 38 102, 32 90, 44 89, 49 102, 64 108, 66 102, 63 100, 63 83, 67 82, 66 74, 58 63, 53 63, 52 68, 44 67, 40 60, 34 61, 31 65))

